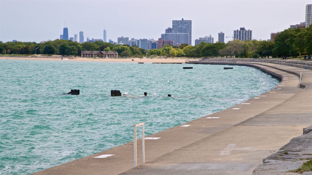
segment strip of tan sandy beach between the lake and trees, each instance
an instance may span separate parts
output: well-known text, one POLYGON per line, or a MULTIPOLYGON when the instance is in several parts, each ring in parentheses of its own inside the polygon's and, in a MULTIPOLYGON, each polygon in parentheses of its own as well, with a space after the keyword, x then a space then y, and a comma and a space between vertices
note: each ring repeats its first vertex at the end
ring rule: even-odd
POLYGON ((137 63, 185 63, 185 60, 188 59, 179 59, 179 58, 126 58, 126 59, 92 59, 92 58, 81 58, 81 57, 63 57, 56 56, 46 57, 46 56, 37 56, 37 57, 0 57, 0 59, 25 59, 25 60, 53 60, 53 61, 105 61, 105 62, 137 62, 137 63))

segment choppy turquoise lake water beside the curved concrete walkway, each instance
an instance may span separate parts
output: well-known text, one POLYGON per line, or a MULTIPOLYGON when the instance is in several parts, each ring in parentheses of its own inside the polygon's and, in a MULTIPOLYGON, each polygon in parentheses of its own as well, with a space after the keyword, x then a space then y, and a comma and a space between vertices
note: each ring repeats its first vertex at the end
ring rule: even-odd
POLYGON ((95 154, 133 140, 135 123, 145 122, 150 135, 279 83, 250 67, 185 65, 0 60, 0 174, 35 173, 95 154), (70 89, 80 95, 63 94, 70 89), (110 90, 128 95, 110 97, 110 90))

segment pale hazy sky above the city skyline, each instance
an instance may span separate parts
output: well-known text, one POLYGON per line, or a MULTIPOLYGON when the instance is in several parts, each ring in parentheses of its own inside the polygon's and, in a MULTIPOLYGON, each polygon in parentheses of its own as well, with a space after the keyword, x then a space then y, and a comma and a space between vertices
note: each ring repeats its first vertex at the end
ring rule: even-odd
POLYGON ((85 40, 117 42, 117 37, 158 40, 172 20, 192 20, 192 45, 199 37, 223 32, 225 42, 245 27, 252 39, 305 21, 312 0, 0 0, 0 41, 41 42, 59 39, 64 21, 69 37, 84 31, 85 40))

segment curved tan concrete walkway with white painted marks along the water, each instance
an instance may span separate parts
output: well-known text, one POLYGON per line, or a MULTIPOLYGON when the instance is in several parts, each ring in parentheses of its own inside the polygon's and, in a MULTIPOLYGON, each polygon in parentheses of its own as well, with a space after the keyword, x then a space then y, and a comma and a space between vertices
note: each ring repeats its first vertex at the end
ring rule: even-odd
POLYGON ((183 124, 187 127, 180 125, 148 136, 159 139, 145 140, 144 164, 138 145, 136 168, 133 142, 129 142, 35 174, 250 175, 263 158, 312 124, 312 71, 270 63, 256 65, 279 74, 283 81, 258 97, 183 124), (300 72, 304 89, 293 74, 300 72), (94 158, 103 154, 114 155, 94 158))

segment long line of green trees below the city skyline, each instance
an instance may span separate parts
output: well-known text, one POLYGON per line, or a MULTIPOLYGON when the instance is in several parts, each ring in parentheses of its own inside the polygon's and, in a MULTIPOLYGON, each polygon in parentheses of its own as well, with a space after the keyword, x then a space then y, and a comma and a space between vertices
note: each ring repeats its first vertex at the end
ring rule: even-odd
POLYGON ((71 40, 48 40, 36 42, 0 41, 1 54, 48 54, 79 56, 86 51, 117 51, 121 57, 167 56, 167 57, 236 57, 259 58, 281 57, 282 55, 297 57, 299 54, 312 54, 312 25, 303 29, 286 29, 275 36, 274 41, 233 40, 228 43, 205 43, 196 46, 181 44, 180 46, 164 45, 159 49, 145 50, 136 45, 114 45, 103 41, 94 43, 78 43, 71 40), (38 49, 36 49, 38 48, 38 49))

